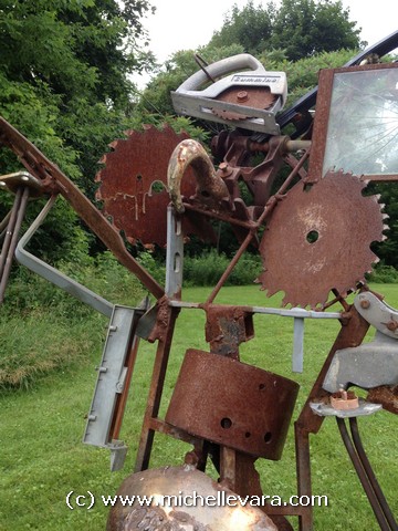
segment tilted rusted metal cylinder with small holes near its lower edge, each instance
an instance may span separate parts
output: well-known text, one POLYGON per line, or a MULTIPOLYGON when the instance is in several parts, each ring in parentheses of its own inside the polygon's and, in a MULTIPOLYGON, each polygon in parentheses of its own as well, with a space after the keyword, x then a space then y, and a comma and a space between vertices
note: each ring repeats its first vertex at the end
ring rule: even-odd
POLYGON ((203 439, 276 460, 298 387, 237 360, 189 350, 166 421, 203 439))

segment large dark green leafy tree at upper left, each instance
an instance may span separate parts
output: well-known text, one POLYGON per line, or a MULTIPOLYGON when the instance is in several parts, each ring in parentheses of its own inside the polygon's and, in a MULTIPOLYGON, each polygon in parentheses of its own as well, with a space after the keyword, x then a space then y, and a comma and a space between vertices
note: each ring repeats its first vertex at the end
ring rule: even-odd
MULTIPOLYGON (((98 158, 128 127, 128 74, 153 62, 138 45, 149 10, 147 0, 0 0, 0 114, 91 198, 98 158)), ((2 149, 0 167, 21 166, 2 149)), ((2 194, 0 215, 9 202, 2 194)), ((49 223, 64 249, 82 240, 75 227, 66 205, 49 223)))

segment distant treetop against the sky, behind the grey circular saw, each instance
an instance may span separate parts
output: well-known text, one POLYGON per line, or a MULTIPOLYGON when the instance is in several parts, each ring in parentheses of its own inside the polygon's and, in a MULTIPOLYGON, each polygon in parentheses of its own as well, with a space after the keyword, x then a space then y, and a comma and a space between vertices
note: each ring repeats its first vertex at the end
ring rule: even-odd
POLYGON ((250 0, 239 10, 234 4, 216 31, 211 45, 239 43, 252 54, 284 50, 290 61, 320 52, 358 49, 360 29, 349 21, 349 9, 332 0, 282 0, 255 7, 250 0))

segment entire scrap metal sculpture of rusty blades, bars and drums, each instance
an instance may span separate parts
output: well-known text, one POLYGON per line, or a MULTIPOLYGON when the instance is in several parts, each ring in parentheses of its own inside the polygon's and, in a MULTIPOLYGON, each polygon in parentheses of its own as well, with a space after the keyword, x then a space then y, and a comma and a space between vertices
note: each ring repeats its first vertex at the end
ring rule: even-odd
MULTIPOLYGON (((362 175, 353 175, 349 157, 343 153, 344 143, 331 152, 331 145, 336 146, 337 131, 333 98, 346 96, 349 101, 350 96, 342 87, 335 95, 334 86, 338 83, 334 85, 334 76, 338 80, 339 75, 346 75, 349 83, 344 85, 360 93, 357 83, 359 86, 363 83, 362 75, 376 74, 386 94, 381 91, 369 97, 376 97, 379 107, 381 98, 383 112, 390 116, 398 91, 398 64, 355 64, 366 54, 388 53, 397 43, 396 32, 345 69, 323 72, 318 93, 312 91, 279 115, 286 95, 283 73, 266 72, 247 54, 212 65, 200 64, 201 71, 172 93, 172 98, 177 112, 237 127, 224 129, 212 139, 212 154, 221 160, 218 168, 200 144, 169 127, 128 132, 102 159, 97 198, 104 204, 103 214, 53 163, 0 118, 1 144, 11 148, 27 169, 0 178, 0 185, 15 194, 14 207, 2 223, 8 229, 0 262, 0 292, 3 293, 15 252, 27 267, 111 317, 84 440, 111 450, 112 469, 123 466, 127 451, 118 436, 139 339, 157 342, 136 470, 126 478, 121 493, 164 496, 196 490, 203 496, 261 497, 254 464, 259 458, 281 458, 298 385, 243 364, 240 344, 254 335, 254 314, 289 316, 295 323, 293 369, 301 371, 304 319, 336 319, 342 324, 341 332, 295 420, 298 494, 311 494, 310 434, 320 430, 326 416, 334 416, 378 525, 381 530, 398 529, 366 457, 357 424, 357 417, 381 407, 377 402, 397 413, 398 312, 373 294, 365 282, 365 273, 377 260, 370 244, 384 239, 386 216, 378 197, 365 196, 364 191, 369 180, 398 180, 398 167, 388 154, 388 160, 377 160, 377 165, 365 166, 362 175), (388 74, 388 90, 383 85, 385 74, 388 74), (212 84, 202 87, 209 81, 212 84), (314 119, 310 110, 316 95, 314 119), (287 128, 293 133, 281 135, 287 128), (156 152, 148 159, 151 147, 156 152), (331 153, 342 166, 334 168, 326 164, 331 153), (252 164, 254 154, 263 155, 260 164, 252 164), (281 169, 286 170, 282 180, 277 179, 281 169), (243 199, 242 187, 252 198, 250 205, 243 199), (59 194, 143 282, 156 300, 151 308, 147 303, 136 309, 113 305, 25 251, 29 238, 59 194), (28 198, 38 195, 50 196, 49 204, 18 243, 28 198), (240 247, 208 299, 185 302, 181 296, 185 239, 190 233, 212 238, 210 221, 214 219, 232 227, 240 247), (129 254, 121 231, 132 243, 167 247, 165 289, 129 254), (258 247, 262 257, 261 288, 268 295, 283 291, 284 305, 301 308, 214 303, 250 244, 258 247), (354 304, 347 302, 349 293, 356 293, 354 304), (334 304, 342 309, 324 311, 334 304), (205 311, 209 352, 187 351, 166 417, 161 419, 159 406, 174 330, 184 309, 205 311), (362 342, 370 325, 378 332, 369 347, 362 342), (359 358, 364 363, 358 363, 359 358), (368 400, 356 399, 348 391, 353 383, 369 389, 368 400), (371 396, 378 399, 373 403, 371 396), (149 469, 156 431, 192 447, 181 467, 149 469), (219 482, 212 482, 205 473, 209 459, 218 470, 219 482)), ((381 115, 378 121, 384 119, 381 115)), ((366 147, 369 136, 364 138, 366 147)), ((119 503, 111 510, 107 529, 283 531, 292 529, 287 516, 298 517, 301 531, 313 529, 311 507, 265 504, 261 510, 224 507, 202 511, 155 506, 137 509, 119 503)))

